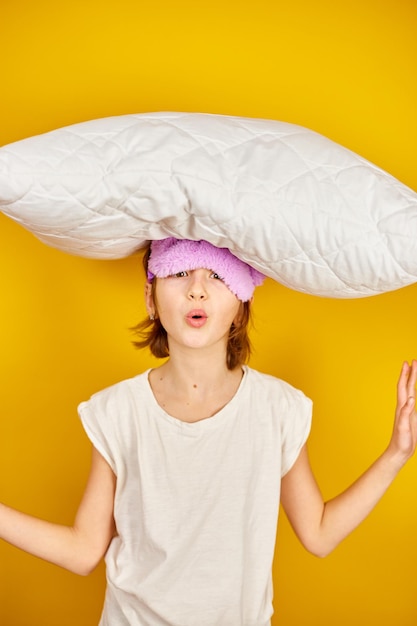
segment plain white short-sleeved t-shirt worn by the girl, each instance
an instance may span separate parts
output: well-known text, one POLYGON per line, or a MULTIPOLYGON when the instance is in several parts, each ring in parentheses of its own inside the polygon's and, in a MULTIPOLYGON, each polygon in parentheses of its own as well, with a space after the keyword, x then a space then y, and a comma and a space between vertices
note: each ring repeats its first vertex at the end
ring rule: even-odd
POLYGON ((216 415, 157 403, 149 371, 79 407, 117 476, 101 626, 267 626, 281 477, 305 443, 311 401, 244 367, 216 415))

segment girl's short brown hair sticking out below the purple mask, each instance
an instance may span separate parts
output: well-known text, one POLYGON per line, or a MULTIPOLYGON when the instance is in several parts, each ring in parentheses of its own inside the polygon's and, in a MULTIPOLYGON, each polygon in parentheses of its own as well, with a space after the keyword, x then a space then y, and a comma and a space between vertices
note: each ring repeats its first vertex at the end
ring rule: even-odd
MULTIPOLYGON (((148 271, 148 259, 150 256, 150 244, 143 255, 143 267, 145 275, 148 271)), ((152 283, 153 292, 155 281, 152 283)), ((248 335, 249 323, 251 322, 250 302, 240 303, 238 323, 232 324, 227 342, 226 364, 229 370, 246 363, 251 354, 251 344, 248 335)), ((169 356, 168 336, 165 328, 158 318, 152 320, 146 318, 132 328, 138 339, 133 342, 136 348, 149 347, 153 356, 164 358, 169 356)))

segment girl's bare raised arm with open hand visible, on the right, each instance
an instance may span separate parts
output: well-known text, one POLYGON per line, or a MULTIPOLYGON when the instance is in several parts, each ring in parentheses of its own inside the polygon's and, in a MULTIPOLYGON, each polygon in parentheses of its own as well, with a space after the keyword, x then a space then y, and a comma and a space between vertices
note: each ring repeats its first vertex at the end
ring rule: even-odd
POLYGON ((397 408, 385 452, 346 491, 324 502, 304 446, 283 477, 281 503, 301 543, 317 556, 329 554, 372 511, 417 444, 417 361, 404 363, 397 385, 397 408))

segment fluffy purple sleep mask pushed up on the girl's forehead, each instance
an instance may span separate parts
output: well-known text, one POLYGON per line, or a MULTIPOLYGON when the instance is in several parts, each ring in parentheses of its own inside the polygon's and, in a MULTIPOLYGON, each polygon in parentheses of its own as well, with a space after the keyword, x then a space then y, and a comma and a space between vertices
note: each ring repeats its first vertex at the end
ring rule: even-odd
POLYGON ((227 248, 217 248, 207 241, 161 239, 151 244, 148 261, 148 281, 154 277, 167 278, 178 272, 205 268, 218 274, 232 293, 246 302, 265 276, 232 254, 227 248))

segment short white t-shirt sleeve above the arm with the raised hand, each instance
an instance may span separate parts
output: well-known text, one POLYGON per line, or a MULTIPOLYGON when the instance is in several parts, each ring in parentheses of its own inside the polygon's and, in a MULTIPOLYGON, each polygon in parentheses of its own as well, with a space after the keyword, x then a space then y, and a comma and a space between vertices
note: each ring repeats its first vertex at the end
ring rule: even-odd
POLYGON ((311 429, 313 403, 301 391, 290 388, 281 425, 281 476, 294 465, 311 429))

